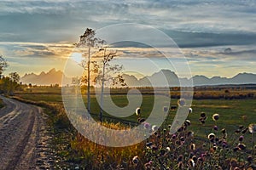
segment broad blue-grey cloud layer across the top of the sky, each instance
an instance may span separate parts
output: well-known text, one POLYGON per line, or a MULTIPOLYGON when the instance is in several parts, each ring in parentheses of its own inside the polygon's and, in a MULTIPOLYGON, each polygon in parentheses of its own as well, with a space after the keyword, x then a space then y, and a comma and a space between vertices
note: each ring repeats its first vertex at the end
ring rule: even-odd
MULTIPOLYGON (((127 22, 166 31, 221 34, 212 35, 212 42, 211 35, 194 35, 193 42, 205 39, 199 45, 206 41, 218 45, 217 37, 230 33, 256 33, 256 4, 247 1, 2 1, 0 6, 2 41, 75 41, 85 27, 96 29, 127 22)), ((178 42, 188 36, 182 32, 177 32, 178 42)), ((236 38, 238 41, 246 40, 236 38)))

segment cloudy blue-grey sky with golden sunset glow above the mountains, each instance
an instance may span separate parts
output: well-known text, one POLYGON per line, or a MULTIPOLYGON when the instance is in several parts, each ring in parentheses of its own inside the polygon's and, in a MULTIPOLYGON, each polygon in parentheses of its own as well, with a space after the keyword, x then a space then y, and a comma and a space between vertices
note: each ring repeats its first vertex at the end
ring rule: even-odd
MULTIPOLYGON (((127 72, 137 72, 137 77, 160 69, 176 71, 176 61, 181 62, 183 57, 192 75, 234 77, 240 72, 256 73, 253 0, 1 1, 0 22, 0 54, 9 63, 5 74, 17 71, 23 76, 52 68, 63 71, 67 59, 73 56, 73 43, 79 42, 87 27, 96 30, 97 35, 109 26, 123 29, 120 37, 127 33, 131 40, 151 26, 177 44, 180 53, 172 54, 172 65, 166 65, 166 56, 159 53, 160 48, 168 48, 166 42, 150 32, 146 39, 159 42, 154 44, 157 50, 136 42, 115 44, 120 51, 115 62, 125 65, 127 72), (138 32, 131 34, 131 29, 125 29, 127 23, 139 25, 138 32)), ((111 30, 109 39, 119 32, 111 30)))

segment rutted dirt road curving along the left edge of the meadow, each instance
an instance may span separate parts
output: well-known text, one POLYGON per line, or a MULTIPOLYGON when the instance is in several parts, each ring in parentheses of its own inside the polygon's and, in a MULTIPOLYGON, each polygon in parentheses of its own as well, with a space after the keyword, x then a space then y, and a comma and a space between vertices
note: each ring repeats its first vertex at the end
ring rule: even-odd
POLYGON ((7 99, 0 110, 0 169, 52 169, 54 156, 42 109, 7 99))

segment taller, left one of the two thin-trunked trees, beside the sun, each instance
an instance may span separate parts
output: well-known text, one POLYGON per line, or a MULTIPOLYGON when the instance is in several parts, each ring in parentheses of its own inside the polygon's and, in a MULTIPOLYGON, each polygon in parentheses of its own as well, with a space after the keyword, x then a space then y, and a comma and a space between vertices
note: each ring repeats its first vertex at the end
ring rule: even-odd
POLYGON ((87 51, 84 51, 84 57, 87 55, 88 59, 83 60, 81 65, 84 68, 84 71, 87 71, 87 76, 84 76, 85 82, 87 82, 87 109, 90 113, 90 53, 91 48, 97 48, 99 44, 102 44, 104 41, 101 41, 99 38, 96 38, 96 31, 87 28, 84 31, 84 34, 80 36, 79 43, 76 44, 78 48, 87 48, 87 51), (86 54, 87 53, 87 54, 86 54))

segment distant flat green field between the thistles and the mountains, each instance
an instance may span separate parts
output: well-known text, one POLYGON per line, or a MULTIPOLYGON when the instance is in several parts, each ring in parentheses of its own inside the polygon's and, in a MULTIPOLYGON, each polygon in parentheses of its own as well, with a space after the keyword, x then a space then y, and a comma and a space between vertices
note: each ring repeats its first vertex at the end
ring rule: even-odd
MULTIPOLYGON (((143 104, 142 108, 142 116, 147 118, 152 110, 152 105, 154 104, 154 95, 147 91, 147 94, 143 95, 143 104)), ((236 94, 251 94, 254 93, 254 90, 235 90, 236 94)), ((196 93, 201 94, 214 94, 214 95, 222 95, 224 90, 212 90, 207 91, 204 89, 197 90, 196 93)), ((229 94, 232 94, 232 91, 229 91, 229 94)), ((61 103, 61 88, 32 88, 31 91, 24 91, 20 94, 17 94, 20 98, 29 99, 34 101, 45 101, 50 103, 61 103)), ((124 91, 115 90, 112 95, 113 102, 119 106, 125 106, 128 104, 128 100, 126 99, 126 95, 124 91)), ((86 96, 84 95, 84 103, 86 104, 86 96)), ((177 105, 177 99, 172 99, 171 105, 177 105)), ((188 119, 195 124, 193 126, 194 131, 199 131, 199 135, 204 135, 205 133, 209 133, 212 131, 212 126, 215 122, 212 121, 212 114, 218 113, 220 115, 220 119, 217 122, 219 128, 226 127, 232 131, 235 131, 239 125, 247 126, 249 123, 256 122, 256 99, 194 99, 193 104, 193 113, 189 114, 188 119), (201 122, 199 122, 199 118, 201 112, 205 112, 208 116, 207 123, 204 125, 204 129, 201 129, 201 122), (198 125, 198 126, 197 126, 198 125)), ((99 105, 96 102, 96 98, 94 95, 91 96, 91 112, 96 114, 93 115, 96 119, 98 118, 97 114, 100 112, 99 105)), ((170 111, 169 116, 167 118, 167 124, 171 124, 173 117, 175 116, 176 111, 170 111)), ((103 116, 109 116, 107 113, 103 113, 103 116)), ((135 114, 125 117, 124 119, 113 119, 113 122, 119 121, 129 121, 129 122, 137 122, 137 116, 135 114)), ((109 121, 109 118, 108 118, 109 121)))

